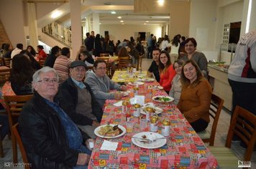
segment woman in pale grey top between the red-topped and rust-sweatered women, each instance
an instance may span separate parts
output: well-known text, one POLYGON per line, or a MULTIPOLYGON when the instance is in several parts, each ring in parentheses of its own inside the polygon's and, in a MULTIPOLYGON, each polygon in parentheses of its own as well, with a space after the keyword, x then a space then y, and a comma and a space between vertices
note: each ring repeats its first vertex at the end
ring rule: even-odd
POLYGON ((174 98, 173 103, 175 105, 178 104, 178 100, 180 100, 181 94, 181 82, 180 82, 180 74, 181 74, 181 67, 183 64, 183 59, 178 59, 173 64, 173 69, 175 69, 176 75, 173 77, 172 81, 172 88, 170 89, 169 96, 174 98))

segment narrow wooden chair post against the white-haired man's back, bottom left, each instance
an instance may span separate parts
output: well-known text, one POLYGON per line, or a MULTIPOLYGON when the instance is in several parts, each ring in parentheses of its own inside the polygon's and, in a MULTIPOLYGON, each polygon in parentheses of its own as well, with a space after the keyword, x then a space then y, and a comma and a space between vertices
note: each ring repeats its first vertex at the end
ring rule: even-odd
POLYGON ((29 167, 29 160, 27 160, 27 153, 22 143, 22 137, 19 135, 19 123, 16 123, 14 126, 12 126, 12 133, 14 133, 14 138, 19 145, 20 153, 22 153, 23 163, 26 164, 24 165, 24 168, 29 169, 30 167, 29 167))

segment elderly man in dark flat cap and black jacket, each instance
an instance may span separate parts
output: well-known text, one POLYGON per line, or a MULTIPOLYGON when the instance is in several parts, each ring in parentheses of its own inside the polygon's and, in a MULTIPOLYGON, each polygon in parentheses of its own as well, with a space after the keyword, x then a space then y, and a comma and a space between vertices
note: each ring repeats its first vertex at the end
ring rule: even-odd
POLYGON ((60 107, 78 127, 96 138, 93 131, 99 126, 103 111, 91 87, 83 82, 86 69, 85 62, 80 60, 70 64, 70 77, 60 86, 60 107))

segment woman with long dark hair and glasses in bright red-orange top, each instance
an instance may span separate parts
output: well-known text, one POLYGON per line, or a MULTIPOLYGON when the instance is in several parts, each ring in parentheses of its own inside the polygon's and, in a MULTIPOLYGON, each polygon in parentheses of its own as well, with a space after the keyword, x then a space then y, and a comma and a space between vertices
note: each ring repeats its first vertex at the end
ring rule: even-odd
POLYGON ((170 88, 172 87, 173 77, 176 72, 173 69, 173 64, 170 62, 170 54, 163 50, 159 55, 159 70, 160 70, 160 85, 163 87, 165 92, 169 94, 170 88))

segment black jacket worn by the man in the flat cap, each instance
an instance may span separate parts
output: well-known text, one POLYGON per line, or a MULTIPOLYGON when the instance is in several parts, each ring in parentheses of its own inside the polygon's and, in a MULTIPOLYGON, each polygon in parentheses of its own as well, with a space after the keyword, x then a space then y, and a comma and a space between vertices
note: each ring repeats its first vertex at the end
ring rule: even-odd
MULTIPOLYGON (((101 122, 101 117, 103 115, 101 106, 93 95, 91 87, 87 83, 83 83, 86 85, 86 89, 91 94, 91 107, 93 110, 93 115, 96 116, 98 122, 101 122)), ((78 90, 75 85, 76 84, 73 82, 71 77, 60 85, 58 94, 60 107, 63 108, 63 110, 68 114, 70 119, 76 123, 76 125, 92 125, 93 120, 76 112, 76 105, 78 104, 78 90)))

